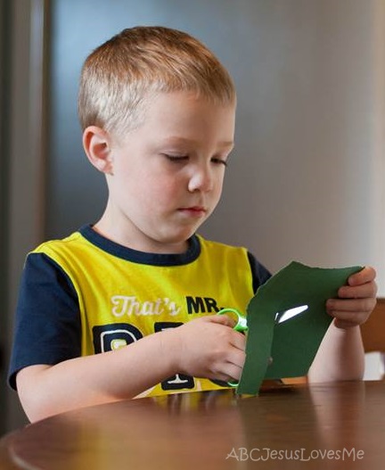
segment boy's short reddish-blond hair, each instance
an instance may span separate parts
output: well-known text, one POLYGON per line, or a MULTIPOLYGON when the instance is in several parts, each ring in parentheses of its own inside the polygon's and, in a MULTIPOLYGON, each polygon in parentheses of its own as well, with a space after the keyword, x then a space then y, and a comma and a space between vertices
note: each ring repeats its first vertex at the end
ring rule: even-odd
POLYGON ((146 98, 174 91, 235 103, 232 78, 200 41, 164 27, 124 29, 86 58, 78 94, 81 127, 125 133, 140 124, 146 98))

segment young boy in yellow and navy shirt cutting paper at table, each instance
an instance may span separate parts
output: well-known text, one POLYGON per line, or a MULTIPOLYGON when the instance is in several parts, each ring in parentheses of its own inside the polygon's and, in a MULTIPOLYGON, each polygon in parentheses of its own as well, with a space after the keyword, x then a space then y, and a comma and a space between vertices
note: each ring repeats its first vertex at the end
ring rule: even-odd
MULTIPOLYGON (((235 101, 216 57, 173 29, 126 29, 86 59, 83 144, 109 197, 93 226, 26 260, 10 383, 31 421, 240 378, 245 338, 215 314, 245 311, 269 273, 245 249, 195 235, 221 195, 235 101)), ((362 376, 374 276, 363 269, 329 302, 311 380, 362 376)))

